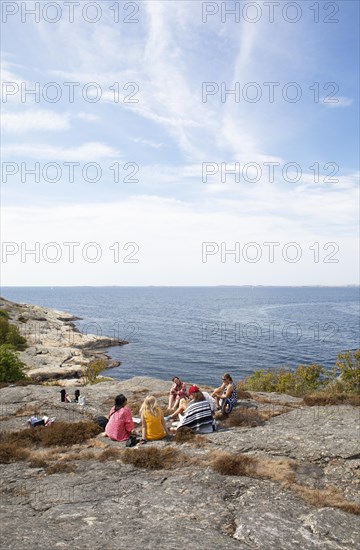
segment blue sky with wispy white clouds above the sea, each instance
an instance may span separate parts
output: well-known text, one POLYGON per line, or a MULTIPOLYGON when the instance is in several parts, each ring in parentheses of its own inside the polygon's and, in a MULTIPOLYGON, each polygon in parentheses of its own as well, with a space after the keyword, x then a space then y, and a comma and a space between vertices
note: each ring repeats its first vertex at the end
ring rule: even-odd
POLYGON ((359 3, 2 2, 4 286, 359 283, 359 3))

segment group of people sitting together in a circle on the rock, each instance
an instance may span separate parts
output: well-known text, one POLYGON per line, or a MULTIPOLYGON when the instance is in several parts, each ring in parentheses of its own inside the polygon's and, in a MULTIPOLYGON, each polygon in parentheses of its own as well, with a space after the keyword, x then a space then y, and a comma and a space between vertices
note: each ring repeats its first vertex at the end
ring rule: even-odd
MULTIPOLYGON (((226 373, 222 384, 211 394, 201 391, 196 385, 187 389, 178 376, 172 379, 169 396, 168 416, 163 415, 157 399, 153 395, 145 398, 140 408, 141 436, 139 443, 164 439, 171 434, 169 423, 176 429, 190 428, 195 433, 211 433, 216 430, 215 412, 222 409, 230 412, 237 401, 236 386, 226 373), (177 421, 176 424, 174 421, 177 421)), ((134 435, 134 420, 127 399, 123 394, 115 397, 109 413, 105 435, 114 441, 127 441, 134 435)))

